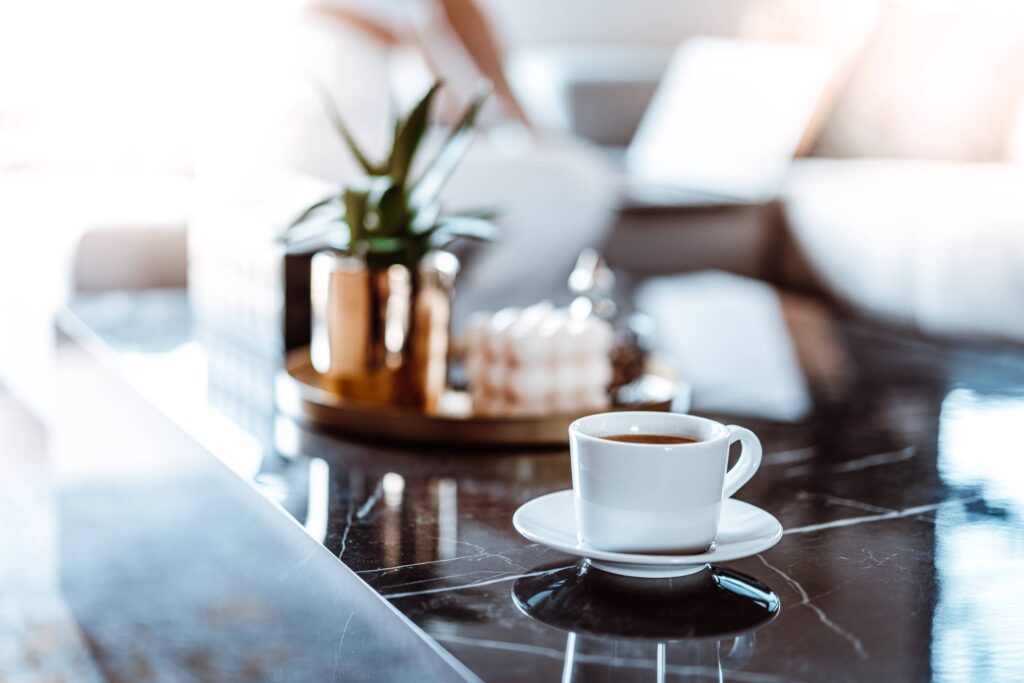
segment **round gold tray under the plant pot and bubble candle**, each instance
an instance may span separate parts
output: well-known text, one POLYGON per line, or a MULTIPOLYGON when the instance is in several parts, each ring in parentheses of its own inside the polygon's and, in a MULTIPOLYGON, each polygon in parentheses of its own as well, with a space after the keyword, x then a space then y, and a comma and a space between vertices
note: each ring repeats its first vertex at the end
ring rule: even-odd
MULTIPOLYGON (((609 410, 668 411, 678 388, 675 373, 655 358, 647 375, 616 392, 609 410)), ((356 401, 328 389, 310 364, 308 348, 286 357, 276 399, 283 413, 306 424, 426 444, 564 445, 569 423, 586 415, 476 416, 469 394, 454 390, 443 396, 436 414, 356 401)))

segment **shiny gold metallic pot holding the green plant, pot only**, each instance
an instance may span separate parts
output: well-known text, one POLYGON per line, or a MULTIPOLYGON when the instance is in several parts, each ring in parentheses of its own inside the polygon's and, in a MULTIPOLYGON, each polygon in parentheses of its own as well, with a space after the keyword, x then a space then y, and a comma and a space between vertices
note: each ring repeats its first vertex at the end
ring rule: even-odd
POLYGON ((459 260, 370 265, 337 252, 310 266, 313 368, 346 398, 436 412, 447 376, 459 260))

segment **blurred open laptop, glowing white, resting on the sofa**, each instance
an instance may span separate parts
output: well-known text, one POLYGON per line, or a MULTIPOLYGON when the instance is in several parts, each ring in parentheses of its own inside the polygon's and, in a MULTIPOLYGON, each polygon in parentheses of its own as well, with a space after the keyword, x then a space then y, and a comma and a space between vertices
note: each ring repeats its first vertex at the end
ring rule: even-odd
POLYGON ((829 75, 827 54, 813 45, 687 40, 625 151, 627 203, 771 201, 829 75))

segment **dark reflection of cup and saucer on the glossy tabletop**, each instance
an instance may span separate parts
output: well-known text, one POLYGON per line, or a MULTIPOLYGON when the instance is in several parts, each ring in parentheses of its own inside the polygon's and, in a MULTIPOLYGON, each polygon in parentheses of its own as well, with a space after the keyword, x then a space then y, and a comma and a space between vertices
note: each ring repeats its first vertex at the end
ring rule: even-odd
POLYGON ((717 680, 751 658, 779 609, 768 586, 722 567, 636 581, 580 562, 520 579, 512 599, 566 632, 563 681, 717 680))

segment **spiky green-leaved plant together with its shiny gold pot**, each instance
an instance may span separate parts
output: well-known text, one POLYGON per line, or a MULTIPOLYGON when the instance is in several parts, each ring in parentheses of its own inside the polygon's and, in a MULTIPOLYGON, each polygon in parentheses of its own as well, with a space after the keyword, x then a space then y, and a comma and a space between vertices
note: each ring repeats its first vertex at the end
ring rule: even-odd
POLYGON ((439 83, 394 126, 386 160, 362 153, 330 97, 332 122, 366 172, 316 202, 288 231, 312 257, 313 367, 349 398, 431 411, 445 387, 449 326, 459 261, 444 247, 490 240, 480 214, 442 215, 438 195, 469 147, 486 97, 470 103, 416 178, 414 162, 439 83))

